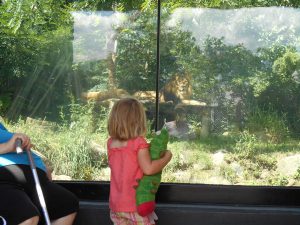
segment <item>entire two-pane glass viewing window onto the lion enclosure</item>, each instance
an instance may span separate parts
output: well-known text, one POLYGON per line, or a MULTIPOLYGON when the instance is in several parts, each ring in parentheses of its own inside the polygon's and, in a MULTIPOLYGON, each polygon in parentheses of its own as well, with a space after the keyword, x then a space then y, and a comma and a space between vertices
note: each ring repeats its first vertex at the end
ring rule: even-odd
MULTIPOLYGON (((300 9, 213 2, 162 3, 163 182, 299 186, 300 9)), ((54 180, 109 180, 122 97, 144 104, 150 141, 157 15, 152 1, 0 1, 0 121, 31 137, 54 180)))

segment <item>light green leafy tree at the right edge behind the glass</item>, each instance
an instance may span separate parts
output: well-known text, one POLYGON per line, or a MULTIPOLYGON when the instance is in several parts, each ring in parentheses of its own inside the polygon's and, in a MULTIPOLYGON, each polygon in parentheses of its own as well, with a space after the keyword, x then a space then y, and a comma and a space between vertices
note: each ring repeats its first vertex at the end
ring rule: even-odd
POLYGON ((291 131, 299 134, 300 85, 293 74, 300 71, 300 55, 291 48, 285 50, 274 61, 272 72, 267 76, 268 85, 257 99, 261 108, 285 115, 291 131))

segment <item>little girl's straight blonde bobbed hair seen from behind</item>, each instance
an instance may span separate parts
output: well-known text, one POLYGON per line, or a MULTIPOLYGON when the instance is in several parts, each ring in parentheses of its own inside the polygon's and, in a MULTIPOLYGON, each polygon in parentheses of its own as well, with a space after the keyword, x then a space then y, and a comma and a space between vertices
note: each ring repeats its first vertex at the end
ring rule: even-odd
POLYGON ((112 138, 125 141, 145 136, 146 132, 146 114, 138 100, 123 98, 114 104, 108 119, 108 133, 112 138))

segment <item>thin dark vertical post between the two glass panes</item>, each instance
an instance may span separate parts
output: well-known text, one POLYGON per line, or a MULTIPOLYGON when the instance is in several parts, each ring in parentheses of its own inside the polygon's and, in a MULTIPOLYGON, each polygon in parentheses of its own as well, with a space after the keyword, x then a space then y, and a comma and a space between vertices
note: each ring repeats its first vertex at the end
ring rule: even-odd
POLYGON ((155 131, 158 131, 158 124, 159 124, 160 13, 161 13, 161 4, 160 4, 160 0, 157 0, 155 131))

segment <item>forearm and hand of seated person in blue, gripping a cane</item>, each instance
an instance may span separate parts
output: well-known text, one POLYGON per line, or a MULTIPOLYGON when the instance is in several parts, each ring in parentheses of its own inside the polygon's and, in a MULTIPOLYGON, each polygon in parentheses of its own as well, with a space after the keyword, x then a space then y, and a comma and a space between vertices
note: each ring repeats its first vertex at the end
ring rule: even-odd
POLYGON ((0 154, 5 154, 5 153, 16 151, 16 140, 17 139, 22 140, 22 148, 23 149, 30 149, 32 147, 30 138, 27 135, 22 134, 22 133, 15 133, 9 141, 0 144, 0 154))

